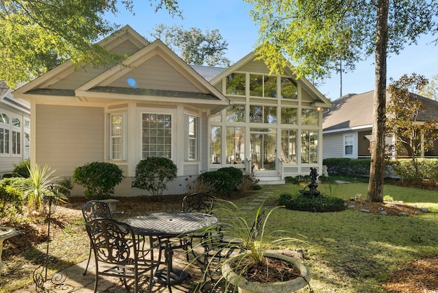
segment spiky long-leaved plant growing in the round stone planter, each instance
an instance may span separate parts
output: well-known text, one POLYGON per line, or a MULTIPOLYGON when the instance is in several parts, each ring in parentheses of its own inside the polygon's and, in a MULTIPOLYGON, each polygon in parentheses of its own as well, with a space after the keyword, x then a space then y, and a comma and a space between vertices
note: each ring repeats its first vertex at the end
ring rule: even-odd
MULTIPOLYGON (((236 287, 242 285, 242 283, 248 283, 244 277, 248 270, 263 268, 266 264, 270 263, 267 261, 267 258, 279 258, 278 255, 273 255, 272 251, 268 251, 273 249, 273 246, 284 246, 289 242, 297 241, 307 243, 303 240, 290 237, 276 238, 275 240, 268 241, 268 239, 273 238, 274 234, 285 235, 288 233, 283 230, 267 231, 266 227, 272 212, 283 206, 272 207, 272 209, 266 211, 263 203, 261 203, 255 212, 255 218, 253 220, 246 220, 242 209, 231 201, 218 199, 215 201, 215 205, 214 214, 223 218, 226 222, 222 222, 219 225, 219 232, 210 231, 209 236, 204 240, 203 246, 207 246, 209 249, 207 251, 207 260, 205 261, 205 266, 207 266, 205 273, 222 270, 222 278, 227 279, 236 287), (236 250, 240 251, 240 253, 231 255, 236 250), (223 256, 224 251, 227 251, 225 253, 226 256, 223 256), (229 253, 230 251, 231 253, 229 253), (219 259, 220 262, 214 262, 215 258, 219 259), (222 261, 225 260, 225 262, 222 262, 221 259, 222 261), (231 274, 233 274, 233 277, 231 277, 231 274)), ((291 260, 289 258, 287 262, 291 262, 293 266, 300 270, 303 280, 300 285, 308 283, 310 275, 305 266, 296 259, 291 260)), ((271 270, 271 268, 263 271, 276 275, 276 270, 271 270)), ((283 272, 279 275, 285 276, 283 272)), ((270 279, 268 275, 264 275, 263 278, 270 279)))

